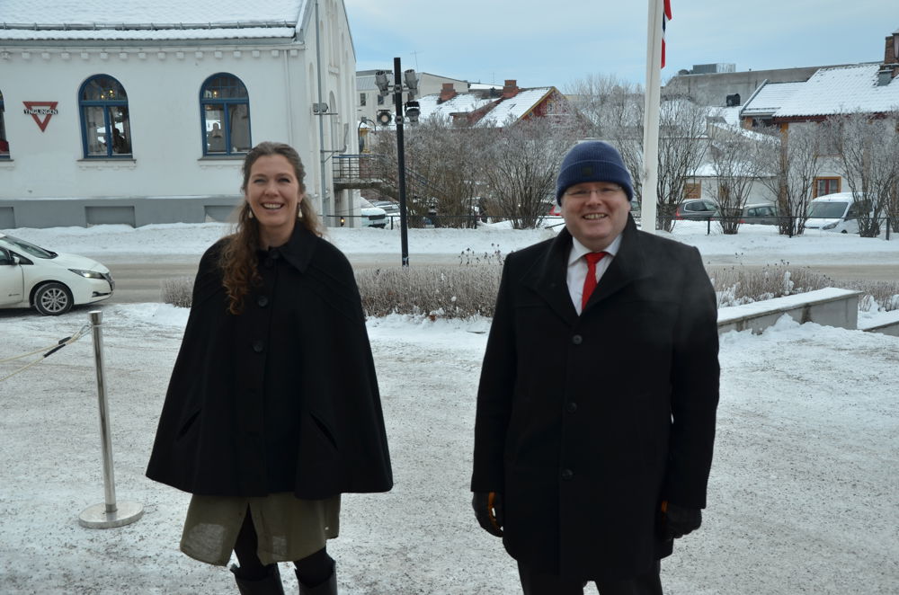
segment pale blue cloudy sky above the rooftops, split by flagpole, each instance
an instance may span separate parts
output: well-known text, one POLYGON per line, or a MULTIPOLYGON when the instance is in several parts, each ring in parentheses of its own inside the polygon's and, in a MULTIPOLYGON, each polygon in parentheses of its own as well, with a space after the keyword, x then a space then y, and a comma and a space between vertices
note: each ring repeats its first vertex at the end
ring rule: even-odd
MULTIPOLYGON (((588 74, 645 82, 648 2, 344 0, 360 70, 565 87, 588 74)), ((874 62, 896 0, 672 0, 663 80, 694 64, 737 71, 874 62)))

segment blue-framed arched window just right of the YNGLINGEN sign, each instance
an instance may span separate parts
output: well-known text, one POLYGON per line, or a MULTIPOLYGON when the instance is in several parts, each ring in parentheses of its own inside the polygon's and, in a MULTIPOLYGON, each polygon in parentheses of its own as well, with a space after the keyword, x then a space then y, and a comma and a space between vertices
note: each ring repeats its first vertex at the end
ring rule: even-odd
POLYGON ((128 94, 110 75, 96 75, 78 92, 81 137, 86 157, 130 157, 128 94))

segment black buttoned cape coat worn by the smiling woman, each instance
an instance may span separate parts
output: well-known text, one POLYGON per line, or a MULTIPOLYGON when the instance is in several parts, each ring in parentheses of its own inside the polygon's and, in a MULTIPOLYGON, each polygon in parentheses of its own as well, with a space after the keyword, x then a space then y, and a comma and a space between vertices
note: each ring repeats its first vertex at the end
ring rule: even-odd
POLYGON ((200 261, 147 476, 190 493, 386 492, 393 485, 359 289, 301 226, 259 254, 262 287, 227 312, 223 242, 200 261))

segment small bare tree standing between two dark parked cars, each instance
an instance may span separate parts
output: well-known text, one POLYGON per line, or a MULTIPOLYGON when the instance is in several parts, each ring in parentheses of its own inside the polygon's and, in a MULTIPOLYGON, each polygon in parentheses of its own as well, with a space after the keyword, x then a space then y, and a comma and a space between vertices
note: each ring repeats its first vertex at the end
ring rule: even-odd
POLYGON ((737 233, 743 207, 759 178, 759 160, 753 155, 771 145, 770 138, 751 130, 727 126, 709 126, 710 164, 717 176, 717 203, 721 229, 727 235, 737 233))

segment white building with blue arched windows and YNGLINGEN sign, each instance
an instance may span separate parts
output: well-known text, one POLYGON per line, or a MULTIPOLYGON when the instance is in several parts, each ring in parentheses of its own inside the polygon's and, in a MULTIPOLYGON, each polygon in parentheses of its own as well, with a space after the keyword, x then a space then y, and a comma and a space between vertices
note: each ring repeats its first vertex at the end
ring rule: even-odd
POLYGON ((343 0, 4 0, 0 73, 0 228, 223 219, 263 140, 297 148, 320 213, 358 210, 331 190, 355 141, 343 0))

